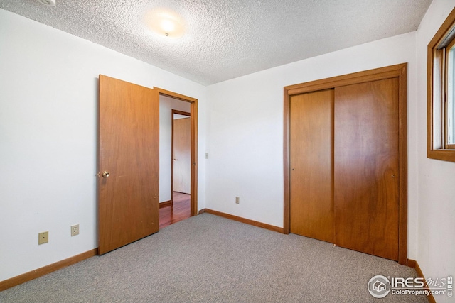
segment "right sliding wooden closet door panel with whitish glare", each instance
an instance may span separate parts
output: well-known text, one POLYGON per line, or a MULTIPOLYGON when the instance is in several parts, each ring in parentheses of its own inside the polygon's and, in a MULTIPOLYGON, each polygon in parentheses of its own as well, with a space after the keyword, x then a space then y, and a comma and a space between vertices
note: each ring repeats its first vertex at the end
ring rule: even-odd
POLYGON ((338 246, 398 260, 398 79, 335 89, 338 246))

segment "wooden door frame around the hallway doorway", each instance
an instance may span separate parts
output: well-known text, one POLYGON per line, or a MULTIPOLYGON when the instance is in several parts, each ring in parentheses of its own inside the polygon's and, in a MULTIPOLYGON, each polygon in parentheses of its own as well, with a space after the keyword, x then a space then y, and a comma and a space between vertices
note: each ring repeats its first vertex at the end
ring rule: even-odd
MULTIPOLYGON (((191 216, 198 214, 198 99, 177 94, 166 89, 154 87, 161 96, 171 97, 181 101, 190 103, 190 119, 191 119, 191 185, 190 185, 190 204, 191 216)), ((173 158, 171 158, 173 159, 173 158)), ((173 173, 173 168, 171 169, 173 173)), ((172 182, 172 180, 171 180, 172 182)), ((172 184, 171 184, 172 189, 172 184)), ((172 193, 171 193, 171 199, 172 193)))

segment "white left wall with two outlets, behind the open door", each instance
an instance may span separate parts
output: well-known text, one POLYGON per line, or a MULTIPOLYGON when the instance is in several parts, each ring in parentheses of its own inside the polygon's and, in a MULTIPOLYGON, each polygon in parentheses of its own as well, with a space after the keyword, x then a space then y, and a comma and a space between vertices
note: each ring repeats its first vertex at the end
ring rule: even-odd
POLYGON ((0 54, 0 281, 97 247, 99 74, 198 99, 205 207, 205 87, 2 9, 0 54))

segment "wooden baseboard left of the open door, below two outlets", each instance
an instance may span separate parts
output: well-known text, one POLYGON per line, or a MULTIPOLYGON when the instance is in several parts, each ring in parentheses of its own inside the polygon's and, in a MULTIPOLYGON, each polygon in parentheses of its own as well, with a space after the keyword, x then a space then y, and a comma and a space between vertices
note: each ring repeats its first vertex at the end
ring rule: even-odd
POLYGON ((22 275, 18 275, 16 277, 11 277, 10 279, 4 280, 4 281, 0 281, 0 292, 2 290, 7 290, 16 285, 36 279, 37 277, 47 275, 50 272, 55 272, 55 270, 60 270, 69 265, 73 265, 82 260, 92 258, 94 255, 97 255, 97 254, 98 254, 98 248, 95 248, 95 249, 86 251, 85 253, 81 253, 79 255, 74 255, 73 257, 70 257, 68 259, 46 265, 43 268, 38 268, 36 270, 32 270, 31 272, 26 272, 22 275))

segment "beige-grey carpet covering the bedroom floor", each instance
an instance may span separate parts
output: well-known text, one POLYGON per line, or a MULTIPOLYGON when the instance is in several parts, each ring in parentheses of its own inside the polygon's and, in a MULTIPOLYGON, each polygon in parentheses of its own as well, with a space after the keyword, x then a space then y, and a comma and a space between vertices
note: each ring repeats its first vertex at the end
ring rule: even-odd
POLYGON ((367 290, 391 260, 211 214, 0 292, 0 302, 428 302, 367 290))

